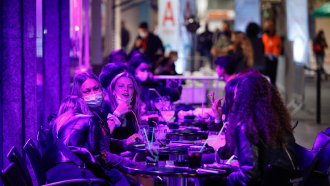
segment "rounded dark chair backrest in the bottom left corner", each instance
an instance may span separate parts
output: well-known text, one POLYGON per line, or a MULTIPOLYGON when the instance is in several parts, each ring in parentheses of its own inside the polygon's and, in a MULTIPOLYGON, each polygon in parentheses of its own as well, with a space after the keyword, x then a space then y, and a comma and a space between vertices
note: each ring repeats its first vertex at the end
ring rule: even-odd
POLYGON ((0 172, 0 178, 5 186, 28 186, 26 180, 15 163, 10 163, 8 167, 0 172))

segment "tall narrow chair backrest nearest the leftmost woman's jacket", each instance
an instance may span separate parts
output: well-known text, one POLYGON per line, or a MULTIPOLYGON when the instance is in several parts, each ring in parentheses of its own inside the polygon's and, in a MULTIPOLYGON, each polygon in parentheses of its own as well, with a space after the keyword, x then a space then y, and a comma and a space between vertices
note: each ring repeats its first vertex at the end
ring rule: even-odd
POLYGON ((26 154, 28 154, 38 184, 45 185, 47 183, 47 177, 45 174, 45 169, 41 162, 41 155, 31 138, 28 140, 27 143, 25 143, 23 149, 26 154))

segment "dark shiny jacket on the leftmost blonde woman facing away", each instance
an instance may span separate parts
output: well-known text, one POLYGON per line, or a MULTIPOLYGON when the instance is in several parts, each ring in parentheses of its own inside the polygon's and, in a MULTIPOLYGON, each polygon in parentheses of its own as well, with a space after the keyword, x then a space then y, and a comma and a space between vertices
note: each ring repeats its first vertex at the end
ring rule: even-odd
MULTIPOLYGON (((58 163, 69 163, 67 158, 54 144, 52 123, 46 138, 43 165, 50 169, 58 163)), ((74 115, 58 131, 58 139, 72 149, 85 163, 97 163, 95 156, 100 155, 102 130, 98 116, 74 115)))

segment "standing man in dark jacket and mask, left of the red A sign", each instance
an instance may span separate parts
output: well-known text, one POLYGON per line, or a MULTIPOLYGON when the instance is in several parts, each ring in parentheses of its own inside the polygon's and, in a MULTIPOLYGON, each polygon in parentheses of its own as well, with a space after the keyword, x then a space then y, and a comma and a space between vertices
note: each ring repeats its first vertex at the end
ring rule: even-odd
POLYGON ((146 54, 151 61, 155 61, 158 53, 164 54, 164 46, 159 37, 148 30, 148 23, 142 22, 139 26, 139 36, 135 41, 133 50, 146 54))

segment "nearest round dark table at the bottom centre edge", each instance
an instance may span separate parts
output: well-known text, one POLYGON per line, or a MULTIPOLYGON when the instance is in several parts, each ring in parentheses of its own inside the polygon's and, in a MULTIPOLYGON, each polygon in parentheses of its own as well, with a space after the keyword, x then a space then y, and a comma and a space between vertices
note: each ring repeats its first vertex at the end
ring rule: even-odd
POLYGON ((196 169, 175 166, 174 161, 159 161, 158 163, 133 162, 121 167, 122 172, 129 174, 144 174, 150 176, 169 177, 168 185, 186 185, 187 178, 214 178, 228 176, 232 169, 219 174, 197 172, 196 169))

